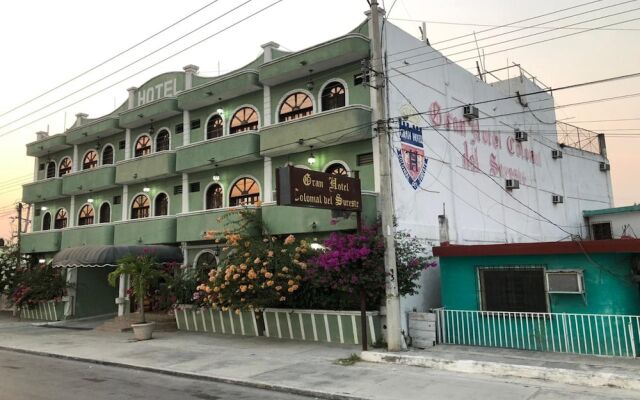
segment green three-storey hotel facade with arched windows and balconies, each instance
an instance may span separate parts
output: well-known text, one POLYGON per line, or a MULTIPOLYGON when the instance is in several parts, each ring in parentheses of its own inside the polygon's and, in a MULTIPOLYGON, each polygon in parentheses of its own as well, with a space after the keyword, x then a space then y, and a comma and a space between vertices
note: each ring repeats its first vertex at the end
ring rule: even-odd
MULTIPOLYGON (((39 132, 27 145, 35 171, 23 201, 34 211, 22 252, 49 261, 87 245, 171 245, 182 249, 185 264, 208 267, 217 251, 205 232, 222 232, 225 214, 241 206, 256 207, 269 234, 356 228, 353 213, 277 205, 275 174, 285 165, 357 171, 363 215, 374 222, 373 89, 361 70, 371 53, 367 22, 298 52, 273 42, 262 47, 228 74, 200 76, 188 65, 129 88, 128 99, 104 116, 77 114, 65 132, 39 132)), ((88 275, 104 278, 69 275, 78 291, 86 291, 88 275)), ((87 307, 108 311, 87 300, 76 311, 85 315, 87 307)))

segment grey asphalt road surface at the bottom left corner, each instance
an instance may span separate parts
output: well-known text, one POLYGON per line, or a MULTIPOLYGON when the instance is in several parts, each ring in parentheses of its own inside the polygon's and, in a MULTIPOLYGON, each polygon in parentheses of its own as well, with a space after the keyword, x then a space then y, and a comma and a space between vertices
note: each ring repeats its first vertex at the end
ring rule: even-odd
POLYGON ((311 397, 0 351, 0 400, 23 399, 293 400, 311 397))

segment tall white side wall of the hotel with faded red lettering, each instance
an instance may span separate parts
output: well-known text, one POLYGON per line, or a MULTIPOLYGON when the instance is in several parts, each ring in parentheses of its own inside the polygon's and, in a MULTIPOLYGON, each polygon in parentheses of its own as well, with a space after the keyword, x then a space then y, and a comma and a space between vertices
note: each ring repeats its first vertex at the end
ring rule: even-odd
MULTIPOLYGON (((555 132, 554 110, 544 110, 553 107, 553 98, 547 93, 527 96, 533 112, 517 99, 478 104, 480 119, 468 121, 461 107, 465 104, 514 95, 516 90, 531 93, 540 89, 520 76, 489 85, 446 58, 436 59, 439 52, 392 24, 387 23, 385 30, 392 83, 388 87, 388 115, 431 112, 407 121, 423 127, 428 160, 417 188, 405 178, 395 156, 402 143, 398 122, 392 123, 393 192, 399 229, 437 242, 437 217, 444 208, 450 241, 456 244, 556 241, 569 234, 586 235, 582 210, 612 205, 610 173, 600 172, 599 163, 604 159, 599 154, 560 149, 555 136, 544 134, 555 132), (405 51, 414 48, 418 49, 405 51), (428 59, 432 61, 420 62, 428 59), (440 113, 435 113, 438 109, 440 113), (529 134, 522 149, 513 138, 515 127, 529 134), (552 159, 552 149, 562 150, 564 157, 552 159), (477 160, 475 165, 484 173, 474 170, 473 163, 465 162, 458 151, 477 160), (533 160, 523 156, 526 151, 533 151, 533 160), (495 168, 498 165, 505 172, 500 173, 495 168), (520 189, 503 190, 507 176, 517 177, 520 189), (552 194, 564 196, 564 204, 554 205, 552 194)), ((421 283, 420 295, 403 299, 405 311, 440 305, 439 271, 424 274, 421 283)))

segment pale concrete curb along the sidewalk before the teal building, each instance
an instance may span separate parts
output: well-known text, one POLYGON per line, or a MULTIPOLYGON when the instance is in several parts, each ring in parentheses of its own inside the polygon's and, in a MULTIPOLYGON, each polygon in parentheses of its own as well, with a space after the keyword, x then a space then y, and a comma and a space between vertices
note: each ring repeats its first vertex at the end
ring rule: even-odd
POLYGON ((589 372, 563 368, 507 364, 493 361, 450 360, 432 356, 389 354, 363 351, 363 361, 391 363, 415 367, 433 368, 451 372, 485 374, 498 377, 541 379, 546 381, 590 387, 609 387, 640 390, 640 378, 611 372, 589 372))

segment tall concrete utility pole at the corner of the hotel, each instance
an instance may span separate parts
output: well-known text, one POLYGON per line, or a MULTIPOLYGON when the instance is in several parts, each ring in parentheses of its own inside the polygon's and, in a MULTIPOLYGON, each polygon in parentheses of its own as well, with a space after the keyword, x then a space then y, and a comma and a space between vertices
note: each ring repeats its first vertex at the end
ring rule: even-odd
POLYGON ((371 27, 373 46, 371 69, 373 87, 376 91, 376 104, 373 112, 378 130, 378 143, 380 145, 380 214, 385 248, 384 270, 386 273, 387 346, 389 351, 400 351, 403 349, 404 340, 400 322, 400 296, 398 295, 398 274, 396 271, 391 147, 387 133, 387 112, 384 99, 386 79, 382 63, 382 37, 377 0, 371 0, 371 27))

